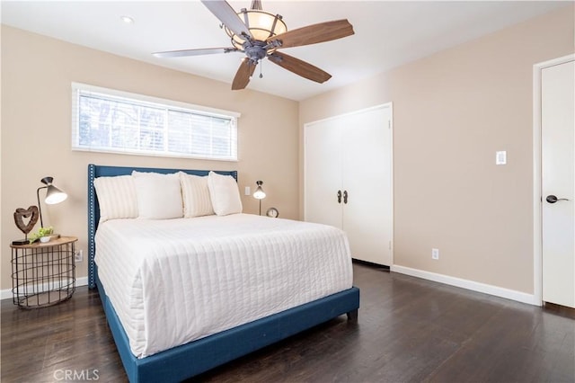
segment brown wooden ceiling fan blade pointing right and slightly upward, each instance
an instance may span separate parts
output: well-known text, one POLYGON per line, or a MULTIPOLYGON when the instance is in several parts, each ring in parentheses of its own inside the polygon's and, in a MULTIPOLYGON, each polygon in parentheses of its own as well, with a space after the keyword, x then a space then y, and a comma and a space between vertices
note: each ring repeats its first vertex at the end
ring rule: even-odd
POLYGON ((293 31, 280 33, 279 35, 270 37, 266 41, 279 41, 279 48, 291 48, 337 40, 350 36, 353 33, 353 25, 347 20, 336 20, 333 22, 320 22, 319 24, 308 25, 293 31))

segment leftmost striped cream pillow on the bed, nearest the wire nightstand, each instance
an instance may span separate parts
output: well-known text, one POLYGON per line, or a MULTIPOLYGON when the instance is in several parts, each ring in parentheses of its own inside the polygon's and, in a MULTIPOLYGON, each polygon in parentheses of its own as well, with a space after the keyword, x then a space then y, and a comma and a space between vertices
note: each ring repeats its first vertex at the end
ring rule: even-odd
POLYGON ((136 186, 131 175, 98 177, 93 180, 98 203, 100 223, 108 219, 137 218, 136 186))

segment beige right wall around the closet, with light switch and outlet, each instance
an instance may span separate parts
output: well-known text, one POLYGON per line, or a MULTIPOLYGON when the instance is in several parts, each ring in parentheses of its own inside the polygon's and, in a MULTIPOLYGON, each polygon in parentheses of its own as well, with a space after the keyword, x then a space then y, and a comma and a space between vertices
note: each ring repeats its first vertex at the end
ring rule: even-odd
POLYGON ((394 264, 533 293, 533 65, 573 36, 569 6, 300 102, 300 143, 306 122, 393 102, 394 264))

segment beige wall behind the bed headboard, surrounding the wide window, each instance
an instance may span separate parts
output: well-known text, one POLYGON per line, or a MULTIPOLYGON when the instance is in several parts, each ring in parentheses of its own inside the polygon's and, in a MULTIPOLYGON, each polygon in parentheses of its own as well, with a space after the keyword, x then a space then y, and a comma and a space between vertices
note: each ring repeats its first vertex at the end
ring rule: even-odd
MULTIPOLYGON (((139 165, 239 171, 239 186, 255 188, 263 180, 280 217, 298 218, 297 102, 155 67, 128 58, 72 45, 2 26, 2 243, 1 289, 11 288, 9 243, 22 238, 13 211, 36 205, 36 189, 46 175, 68 199, 42 209, 45 226, 78 236, 86 252, 86 168, 139 165), (70 149, 70 83, 80 82, 137 94, 190 102, 242 113, 238 124, 239 162, 198 161, 146 156, 73 152, 70 149), (279 118, 280 116, 280 118, 279 118), (274 142, 277 145, 263 145, 274 142)), ((243 196, 244 211, 258 212, 258 202, 243 196)), ((35 231, 40 227, 40 223, 35 231)), ((86 275, 86 263, 77 276, 86 275)))

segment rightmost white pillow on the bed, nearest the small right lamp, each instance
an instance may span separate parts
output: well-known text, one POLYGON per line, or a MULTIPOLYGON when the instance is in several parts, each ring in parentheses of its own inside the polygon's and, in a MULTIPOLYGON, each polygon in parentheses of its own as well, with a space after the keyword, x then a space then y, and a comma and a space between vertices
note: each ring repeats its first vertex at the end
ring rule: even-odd
POLYGON ((240 190, 234 177, 214 172, 208 174, 209 196, 212 200, 214 212, 218 216, 226 216, 242 212, 240 190))

